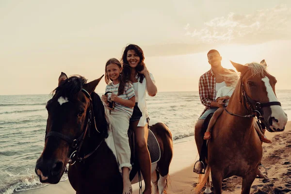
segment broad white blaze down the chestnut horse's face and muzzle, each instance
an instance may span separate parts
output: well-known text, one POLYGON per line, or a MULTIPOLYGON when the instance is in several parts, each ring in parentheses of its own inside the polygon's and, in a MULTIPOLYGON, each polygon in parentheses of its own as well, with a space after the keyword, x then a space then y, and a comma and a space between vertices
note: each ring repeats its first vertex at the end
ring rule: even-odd
MULTIPOLYGON (((272 88, 272 86, 270 84, 269 78, 266 76, 266 77, 264 77, 262 79, 262 81, 265 83, 267 94, 268 94, 268 98, 269 98, 269 102, 278 102, 278 99, 275 96, 273 88, 272 88)), ((275 129, 284 129, 284 126, 286 125, 286 123, 288 121, 286 113, 284 113, 282 107, 279 106, 279 105, 273 105, 273 106, 270 106, 270 108, 272 110, 272 115, 271 116, 278 120, 278 122, 276 122, 273 119, 271 127, 275 128, 275 129)))

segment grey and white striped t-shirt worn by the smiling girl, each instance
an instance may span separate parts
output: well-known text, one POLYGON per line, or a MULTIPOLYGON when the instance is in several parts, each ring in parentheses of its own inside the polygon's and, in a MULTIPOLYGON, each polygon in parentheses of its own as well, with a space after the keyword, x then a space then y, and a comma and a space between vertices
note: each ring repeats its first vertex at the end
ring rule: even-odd
MULTIPOLYGON (((106 86, 105 93, 112 92, 117 95, 118 87, 119 87, 119 83, 116 85, 114 85, 113 83, 110 83, 109 85, 106 86)), ((134 96, 135 96, 135 93, 134 93, 133 85, 131 83, 126 83, 124 86, 124 93, 122 95, 119 95, 118 97, 128 100, 129 98, 134 97, 134 96)), ((110 99, 111 93, 108 94, 108 97, 110 99)), ((129 108, 127 106, 124 106, 116 102, 115 108, 112 111, 123 111, 125 113, 128 113, 129 116, 131 116, 133 112, 133 108, 129 108)))

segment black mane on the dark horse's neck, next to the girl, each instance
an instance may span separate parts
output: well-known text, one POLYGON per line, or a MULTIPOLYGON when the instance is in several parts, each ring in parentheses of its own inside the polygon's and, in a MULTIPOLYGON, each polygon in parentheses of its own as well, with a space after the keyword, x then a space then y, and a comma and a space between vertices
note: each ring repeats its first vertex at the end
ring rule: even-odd
POLYGON ((93 102, 93 112, 95 116, 96 127, 104 135, 104 137, 107 138, 109 135, 109 125, 106 120, 103 102, 101 101, 99 95, 97 95, 95 92, 91 93, 91 98, 93 102))

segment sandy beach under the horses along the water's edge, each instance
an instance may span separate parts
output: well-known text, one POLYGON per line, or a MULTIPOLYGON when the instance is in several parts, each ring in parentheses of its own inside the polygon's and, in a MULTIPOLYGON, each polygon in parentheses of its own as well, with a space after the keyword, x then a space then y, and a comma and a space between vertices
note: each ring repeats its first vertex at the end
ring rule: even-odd
MULTIPOLYGON (((257 178, 253 183, 251 194, 291 194, 291 121, 287 123, 284 132, 266 132, 266 135, 273 141, 272 144, 263 144, 262 164, 267 168, 269 179, 257 178)), ((167 194, 194 194, 198 176, 193 173, 193 165, 197 159, 194 136, 175 142, 167 194)), ((223 193, 240 194, 241 183, 242 178, 227 178, 223 182, 223 193)), ((133 189, 134 194, 139 193, 138 184, 134 184, 133 189)), ((16 193, 74 194, 75 191, 66 180, 57 185, 16 193)))

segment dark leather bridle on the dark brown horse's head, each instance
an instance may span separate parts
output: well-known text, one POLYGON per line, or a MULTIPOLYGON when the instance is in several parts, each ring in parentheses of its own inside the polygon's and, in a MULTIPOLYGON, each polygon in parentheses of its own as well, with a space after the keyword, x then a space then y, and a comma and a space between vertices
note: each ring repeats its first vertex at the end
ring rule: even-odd
MULTIPOLYGON (((94 124, 94 128, 97 130, 97 132, 100 133, 100 131, 98 131, 98 129, 96 127, 92 98, 91 98, 90 94, 85 89, 82 89, 81 91, 86 95, 86 97, 88 97, 90 99, 90 105, 89 105, 89 110, 88 110, 89 114, 87 114, 88 120, 87 120, 87 124, 86 124, 86 129, 81 133, 81 135, 78 138, 70 137, 70 136, 64 135, 63 133, 57 132, 57 131, 50 131, 48 134, 46 134, 46 138, 45 138, 45 140, 46 140, 50 136, 58 137, 58 138, 64 140, 65 142, 67 142, 68 145, 70 145, 70 148, 74 149, 74 151, 71 153, 71 155, 69 157, 68 163, 70 163, 70 165, 75 164, 76 161, 81 162, 81 161, 84 161, 85 159, 87 159, 89 156, 91 156, 98 149, 98 147, 101 145, 101 143, 104 140, 104 139, 102 139, 102 141, 99 143, 99 145, 92 152, 85 155, 83 158, 79 157, 81 146, 84 142, 88 128, 91 127, 91 124, 94 124), (92 120, 93 120, 93 123, 91 122, 92 120)), ((89 136, 90 136, 90 134, 89 134, 89 136)))

